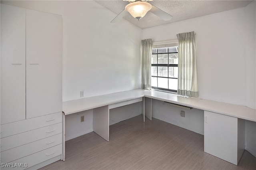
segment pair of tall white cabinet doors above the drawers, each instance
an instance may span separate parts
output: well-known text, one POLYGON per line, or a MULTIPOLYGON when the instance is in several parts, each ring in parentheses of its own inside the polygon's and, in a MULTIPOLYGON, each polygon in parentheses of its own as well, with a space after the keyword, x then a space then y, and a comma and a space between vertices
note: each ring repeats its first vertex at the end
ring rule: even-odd
POLYGON ((62 17, 1 4, 1 125, 62 111, 62 17))

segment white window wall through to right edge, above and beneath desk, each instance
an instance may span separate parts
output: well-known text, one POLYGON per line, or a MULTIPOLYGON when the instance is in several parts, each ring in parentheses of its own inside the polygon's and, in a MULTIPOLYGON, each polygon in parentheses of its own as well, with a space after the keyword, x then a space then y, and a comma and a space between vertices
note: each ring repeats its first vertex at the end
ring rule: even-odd
MULTIPOLYGON (((196 32, 199 97, 256 109, 256 2, 244 8, 144 29, 142 39, 175 40, 176 34, 191 31, 196 32)), ((196 125, 203 130, 200 111, 194 112, 193 118, 182 119, 180 110, 159 101, 153 100, 152 108, 157 108, 152 111, 157 119, 194 132, 196 125), (184 123, 187 119, 192 125, 184 123)), ((245 144, 246 150, 256 156, 255 122, 246 121, 245 144)))

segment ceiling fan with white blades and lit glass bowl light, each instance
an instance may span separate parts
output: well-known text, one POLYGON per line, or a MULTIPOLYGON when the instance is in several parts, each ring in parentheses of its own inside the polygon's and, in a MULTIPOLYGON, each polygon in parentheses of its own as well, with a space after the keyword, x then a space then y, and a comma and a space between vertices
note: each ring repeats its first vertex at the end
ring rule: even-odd
POLYGON ((134 18, 140 20, 142 17, 146 15, 148 11, 152 12, 156 16, 162 18, 165 21, 168 21, 172 18, 172 16, 159 8, 153 6, 147 1, 152 0, 123 0, 128 1, 130 4, 125 6, 125 9, 111 21, 111 23, 118 22, 121 18, 123 18, 126 14, 130 13, 134 18))

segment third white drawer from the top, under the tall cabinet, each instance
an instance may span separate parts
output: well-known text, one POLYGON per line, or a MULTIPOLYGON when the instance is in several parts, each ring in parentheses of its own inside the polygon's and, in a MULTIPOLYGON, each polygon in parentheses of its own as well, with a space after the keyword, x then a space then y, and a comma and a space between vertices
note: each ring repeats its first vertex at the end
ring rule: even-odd
POLYGON ((62 144, 62 133, 3 151, 1 163, 8 163, 58 144, 62 144))

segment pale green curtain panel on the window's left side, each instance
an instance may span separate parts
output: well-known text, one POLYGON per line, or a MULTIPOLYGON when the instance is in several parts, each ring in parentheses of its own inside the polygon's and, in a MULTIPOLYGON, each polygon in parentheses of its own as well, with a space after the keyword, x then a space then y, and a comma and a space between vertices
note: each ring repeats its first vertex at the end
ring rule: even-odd
POLYGON ((151 89, 151 55, 152 39, 141 40, 142 43, 142 89, 151 89))

